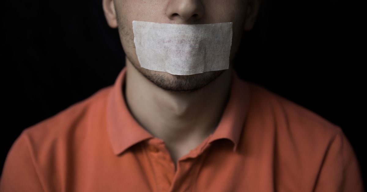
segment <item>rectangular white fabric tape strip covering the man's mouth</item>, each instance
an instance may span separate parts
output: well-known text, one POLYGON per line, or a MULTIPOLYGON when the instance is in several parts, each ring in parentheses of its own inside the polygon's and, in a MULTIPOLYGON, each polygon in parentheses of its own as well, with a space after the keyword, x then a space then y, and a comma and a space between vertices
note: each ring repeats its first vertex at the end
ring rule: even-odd
POLYGON ((173 75, 229 68, 232 22, 200 25, 132 21, 141 67, 173 75))

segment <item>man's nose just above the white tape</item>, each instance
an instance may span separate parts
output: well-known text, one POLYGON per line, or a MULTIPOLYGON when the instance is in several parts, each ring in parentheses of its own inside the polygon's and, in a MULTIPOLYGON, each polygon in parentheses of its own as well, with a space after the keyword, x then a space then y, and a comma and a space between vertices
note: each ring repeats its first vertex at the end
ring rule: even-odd
POLYGON ((193 22, 203 17, 204 7, 201 0, 171 0, 166 14, 171 20, 193 22))

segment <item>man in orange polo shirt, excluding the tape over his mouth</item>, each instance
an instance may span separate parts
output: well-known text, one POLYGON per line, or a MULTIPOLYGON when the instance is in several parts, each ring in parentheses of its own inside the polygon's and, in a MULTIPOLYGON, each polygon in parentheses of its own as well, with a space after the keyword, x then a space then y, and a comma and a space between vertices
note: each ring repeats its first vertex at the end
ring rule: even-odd
POLYGON ((240 80, 232 60, 259 0, 103 0, 126 68, 114 86, 25 129, 0 191, 363 191, 341 128, 240 80), (141 67, 132 21, 233 22, 229 69, 141 67))

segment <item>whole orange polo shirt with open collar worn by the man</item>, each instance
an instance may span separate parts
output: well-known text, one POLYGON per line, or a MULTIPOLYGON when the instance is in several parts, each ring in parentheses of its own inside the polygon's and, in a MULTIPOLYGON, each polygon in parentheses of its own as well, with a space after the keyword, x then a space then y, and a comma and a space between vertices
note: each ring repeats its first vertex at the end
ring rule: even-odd
POLYGON ((217 129, 175 170, 163 140, 131 116, 125 74, 25 129, 7 155, 0 191, 363 191, 340 127, 234 71, 217 129))

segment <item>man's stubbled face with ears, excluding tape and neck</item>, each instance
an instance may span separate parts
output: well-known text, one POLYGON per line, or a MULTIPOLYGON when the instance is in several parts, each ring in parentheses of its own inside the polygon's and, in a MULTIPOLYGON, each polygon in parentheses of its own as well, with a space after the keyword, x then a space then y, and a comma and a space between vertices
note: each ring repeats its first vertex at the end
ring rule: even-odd
POLYGON ((172 75, 142 68, 135 52, 132 21, 171 24, 233 22, 231 65, 243 30, 246 30, 245 23, 250 22, 250 24, 246 23, 248 28, 253 25, 252 21, 246 21, 249 8, 251 6, 248 0, 103 0, 106 19, 111 27, 117 24, 128 62, 130 61, 142 75, 157 86, 174 91, 200 89, 221 75, 224 70, 195 75, 172 75), (112 13, 113 9, 115 13, 112 13))

